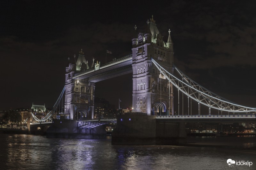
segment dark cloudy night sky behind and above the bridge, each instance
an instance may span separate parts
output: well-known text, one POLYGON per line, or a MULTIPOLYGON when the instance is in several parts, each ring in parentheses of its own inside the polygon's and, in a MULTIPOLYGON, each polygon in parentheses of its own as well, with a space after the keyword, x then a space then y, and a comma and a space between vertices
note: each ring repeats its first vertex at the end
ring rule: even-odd
MULTIPOLYGON (((1 1, 0 111, 52 108, 65 85, 67 58, 83 48, 105 63, 132 52, 134 25, 154 16, 174 64, 220 96, 256 107, 255 1, 1 1)), ((174 96, 177 99, 177 91, 174 96)), ((95 97, 132 107, 132 74, 96 83, 95 97)), ((175 102, 175 101, 174 101, 175 102)), ((176 110, 174 108, 174 110, 176 110)))

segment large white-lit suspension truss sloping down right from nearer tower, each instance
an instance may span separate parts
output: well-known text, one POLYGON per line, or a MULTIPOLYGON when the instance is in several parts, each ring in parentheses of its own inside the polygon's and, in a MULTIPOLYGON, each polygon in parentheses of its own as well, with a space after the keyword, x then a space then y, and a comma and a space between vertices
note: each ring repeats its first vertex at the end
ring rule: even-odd
POLYGON ((210 111, 211 111, 211 108, 213 108, 213 109, 220 110, 221 112, 222 111, 233 112, 233 113, 243 112, 246 114, 256 113, 256 108, 241 106, 239 104, 236 104, 227 99, 224 99, 223 97, 220 97, 219 95, 207 90, 203 86, 197 84, 192 79, 188 78, 188 76, 182 73, 175 66, 173 66, 174 70, 177 71, 178 75, 180 76, 180 79, 175 77, 172 73, 165 70, 153 58, 151 58, 151 61, 154 63, 156 68, 161 72, 161 74, 178 89, 178 91, 181 91, 183 94, 187 95, 188 98, 191 98, 197 101, 198 106, 199 104, 203 104, 209 107, 210 111))

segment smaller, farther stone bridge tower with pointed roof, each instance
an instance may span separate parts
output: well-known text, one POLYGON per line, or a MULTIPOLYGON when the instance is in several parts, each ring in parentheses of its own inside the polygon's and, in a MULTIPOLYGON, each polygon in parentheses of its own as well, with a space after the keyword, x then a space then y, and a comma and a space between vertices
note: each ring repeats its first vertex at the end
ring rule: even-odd
POLYGON ((89 66, 81 49, 77 61, 69 62, 66 67, 64 114, 70 115, 70 119, 93 118, 95 83, 86 78, 73 79, 76 72, 87 69, 89 66))

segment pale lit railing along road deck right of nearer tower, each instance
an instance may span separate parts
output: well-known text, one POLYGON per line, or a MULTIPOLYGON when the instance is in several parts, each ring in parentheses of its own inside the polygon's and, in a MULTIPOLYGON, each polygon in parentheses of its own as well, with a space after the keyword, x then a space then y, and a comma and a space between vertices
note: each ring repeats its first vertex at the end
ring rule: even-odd
POLYGON ((256 118, 255 115, 164 115, 156 118, 256 118))

